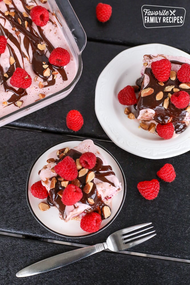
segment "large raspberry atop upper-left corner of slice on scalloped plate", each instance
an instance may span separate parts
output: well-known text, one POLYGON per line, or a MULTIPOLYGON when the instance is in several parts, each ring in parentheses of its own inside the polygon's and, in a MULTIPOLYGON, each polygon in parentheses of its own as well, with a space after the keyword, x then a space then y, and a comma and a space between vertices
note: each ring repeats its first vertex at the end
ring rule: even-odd
POLYGON ((152 73, 158 81, 166 81, 169 79, 171 71, 171 62, 163 58, 151 63, 152 73))

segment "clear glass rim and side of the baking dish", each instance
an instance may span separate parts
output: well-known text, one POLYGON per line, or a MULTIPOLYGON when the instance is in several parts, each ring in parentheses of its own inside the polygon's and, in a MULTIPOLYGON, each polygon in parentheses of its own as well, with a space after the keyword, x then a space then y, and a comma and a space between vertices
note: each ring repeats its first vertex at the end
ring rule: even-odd
MULTIPOLYGON (((13 2, 15 2, 15 4, 17 4, 18 1, 19 0, 13 0, 13 2)), ((32 2, 37 3, 38 5, 42 5, 42 6, 45 5, 45 4, 41 3, 43 1, 39 1, 39 0, 30 1, 30 4, 28 4, 28 5, 32 5, 33 4, 32 2)), ((5 114, 5 115, 3 115, 2 110, 6 110, 4 108, 10 107, 11 104, 5 105, 6 102, 1 101, 1 104, 4 103, 4 105, 2 104, 3 108, 0 109, 0 127, 66 97, 72 91, 72 89, 74 88, 75 84, 77 83, 77 81, 79 80, 79 78, 81 76, 81 72, 82 72, 81 52, 83 51, 83 49, 85 48, 85 45, 86 45, 86 34, 85 34, 79 20, 77 19, 77 16, 75 15, 75 12, 73 11, 68 0, 49 0, 48 4, 49 4, 48 10, 50 10, 49 11, 50 15, 53 15, 54 17, 56 17, 56 20, 57 20, 56 24, 59 25, 59 27, 63 33, 63 36, 66 38, 67 44, 69 46, 69 50, 71 52, 72 61, 75 62, 76 68, 75 68, 75 73, 73 74, 73 79, 71 80, 71 82, 67 86, 63 87, 61 90, 55 92, 56 89, 54 88, 54 91, 53 91, 54 93, 48 94, 44 98, 38 97, 38 99, 34 100, 34 102, 32 102, 32 103, 31 102, 28 104, 25 103, 25 105, 22 104, 20 107, 19 107, 18 102, 16 102, 16 105, 14 103, 15 106, 13 108, 16 107, 16 110, 13 110, 10 113, 5 114)), ((16 7, 15 7, 15 9, 16 9, 16 7)), ((14 7, 13 7, 13 11, 14 11, 14 7)), ((43 27, 41 27, 41 28, 43 29, 43 27)), ((54 44, 54 40, 53 40, 52 44, 54 44)), ((9 51, 10 51, 10 49, 9 49, 9 51)), ((1 82, 1 90, 2 90, 2 86, 3 85, 1 82)), ((9 86, 11 86, 11 85, 9 84, 9 86)), ((34 92, 35 89, 37 89, 37 87, 35 87, 32 92, 34 92)), ((47 89, 47 87, 44 89, 47 89)), ((49 89, 49 87, 48 87, 48 89, 49 89)), ((3 90, 4 90, 4 94, 6 94, 5 89, 3 89, 3 90)), ((26 89, 26 91, 27 90, 28 89, 26 89)), ((43 89, 41 89, 41 90, 43 91, 43 89)), ((40 92, 41 90, 39 89, 38 92, 40 92)), ((43 95, 43 92, 40 94, 43 95)), ((24 96, 21 99, 23 99, 23 98, 24 98, 24 96)), ((22 100, 20 100, 20 101, 22 101, 22 100)), ((12 105, 13 105, 13 103, 12 103, 12 105)))

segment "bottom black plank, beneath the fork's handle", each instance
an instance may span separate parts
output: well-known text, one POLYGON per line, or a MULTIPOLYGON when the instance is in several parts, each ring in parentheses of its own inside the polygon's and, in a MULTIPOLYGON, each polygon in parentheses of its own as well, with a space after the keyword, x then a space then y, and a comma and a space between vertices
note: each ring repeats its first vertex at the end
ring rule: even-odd
POLYGON ((2 284, 189 284, 189 264, 101 252, 68 266, 30 277, 17 278, 22 268, 73 247, 0 236, 2 284), (7 248, 10 251, 7 253, 7 248), (19 260, 18 260, 19 257, 19 260), (111 283, 109 283, 111 282, 111 283))

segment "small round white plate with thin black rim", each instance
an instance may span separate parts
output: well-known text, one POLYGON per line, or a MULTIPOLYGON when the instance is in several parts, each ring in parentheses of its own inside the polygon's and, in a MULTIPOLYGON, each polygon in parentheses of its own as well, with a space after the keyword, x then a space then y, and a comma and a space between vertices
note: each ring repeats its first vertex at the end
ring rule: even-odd
MULTIPOLYGON (((82 140, 81 140, 82 141, 82 140)), ((107 163, 111 165, 113 171, 115 172, 115 175, 119 179, 122 185, 122 191, 120 191, 117 196, 113 197, 111 202, 111 216, 105 220, 102 221, 99 231, 95 233, 87 233, 83 231, 80 228, 80 222, 72 219, 68 222, 63 221, 59 217, 59 211, 56 207, 50 207, 47 211, 40 211, 38 204, 40 202, 47 203, 46 199, 41 200, 38 198, 35 198, 32 196, 30 192, 30 187, 32 184, 38 180, 40 180, 38 176, 38 171, 43 168, 44 165, 47 164, 47 159, 52 157, 52 153, 55 153, 57 150, 68 147, 73 148, 74 146, 77 146, 81 141, 64 141, 58 144, 55 144, 51 146, 50 148, 44 150, 34 161, 33 165, 30 168, 28 179, 27 179, 27 185, 26 185, 26 198, 28 202, 28 206, 30 208, 30 211, 32 212, 33 216, 36 218, 36 220, 47 230, 51 231, 52 233, 56 235, 60 235, 62 237, 69 237, 69 238, 81 238, 81 237, 87 237, 94 235, 96 233, 99 233, 106 227, 108 227, 114 219, 119 214, 122 205, 124 203, 125 195, 126 195, 126 181, 123 174, 123 171, 117 162, 117 160, 113 157, 113 155, 107 151, 104 147, 100 146, 99 144, 95 145, 97 146, 99 152, 104 156, 104 158, 107 160, 107 163)))

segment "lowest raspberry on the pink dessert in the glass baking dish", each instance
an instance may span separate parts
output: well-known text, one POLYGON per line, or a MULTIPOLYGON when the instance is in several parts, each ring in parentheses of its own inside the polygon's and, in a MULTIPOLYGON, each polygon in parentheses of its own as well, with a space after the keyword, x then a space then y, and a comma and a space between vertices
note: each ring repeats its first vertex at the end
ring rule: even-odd
POLYGON ((18 88, 28 88, 32 84, 31 76, 23 68, 17 67, 13 72, 10 84, 18 88))

